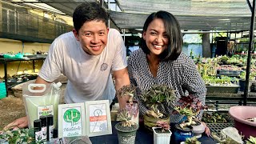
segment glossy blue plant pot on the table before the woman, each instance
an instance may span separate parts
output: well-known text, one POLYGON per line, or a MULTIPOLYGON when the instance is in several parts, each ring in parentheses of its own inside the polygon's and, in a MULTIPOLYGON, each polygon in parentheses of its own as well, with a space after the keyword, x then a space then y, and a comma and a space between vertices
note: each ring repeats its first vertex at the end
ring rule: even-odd
POLYGON ((192 138, 194 136, 192 126, 187 126, 185 130, 179 126, 179 124, 175 125, 174 131, 174 139, 175 142, 185 142, 186 138, 192 138))

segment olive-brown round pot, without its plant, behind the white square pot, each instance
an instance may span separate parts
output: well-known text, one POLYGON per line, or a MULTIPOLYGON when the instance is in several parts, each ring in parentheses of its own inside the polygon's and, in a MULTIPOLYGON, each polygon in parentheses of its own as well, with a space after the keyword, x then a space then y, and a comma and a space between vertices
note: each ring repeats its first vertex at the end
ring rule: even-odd
POLYGON ((170 123, 170 116, 166 116, 166 114, 164 114, 163 118, 154 118, 147 114, 144 115, 144 126, 147 130, 152 131, 152 127, 157 127, 158 121, 170 123))

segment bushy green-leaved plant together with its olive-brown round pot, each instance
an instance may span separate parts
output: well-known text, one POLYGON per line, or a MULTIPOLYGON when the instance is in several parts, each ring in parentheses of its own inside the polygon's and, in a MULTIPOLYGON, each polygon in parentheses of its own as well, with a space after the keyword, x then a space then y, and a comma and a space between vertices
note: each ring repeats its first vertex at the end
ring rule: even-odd
POLYGON ((173 106, 176 94, 166 85, 154 85, 139 95, 142 103, 148 109, 144 115, 144 126, 148 130, 157 126, 157 122, 170 123, 170 115, 165 114, 166 108, 173 106))

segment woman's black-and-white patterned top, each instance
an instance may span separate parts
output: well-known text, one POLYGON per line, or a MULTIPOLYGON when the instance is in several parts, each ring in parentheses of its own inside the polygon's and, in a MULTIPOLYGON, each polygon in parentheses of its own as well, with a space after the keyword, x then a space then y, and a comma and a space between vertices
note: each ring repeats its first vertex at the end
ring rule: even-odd
MULTIPOLYGON (((128 72, 131 84, 137 86, 136 95, 142 94, 142 91, 148 90, 155 84, 165 84, 176 90, 175 103, 188 92, 197 96, 205 105, 206 86, 193 60, 184 53, 181 53, 175 61, 160 62, 157 77, 154 77, 150 72, 146 54, 142 49, 136 50, 128 58, 128 72)), ((137 99, 139 100, 139 98, 137 99)), ((146 107, 140 102, 140 114, 145 114, 146 110, 146 107)), ((171 122, 179 122, 182 116, 171 114, 172 111, 173 108, 170 107, 168 111, 162 112, 170 114, 171 122)), ((197 117, 201 119, 202 113, 198 114, 197 117)))

